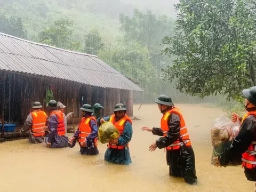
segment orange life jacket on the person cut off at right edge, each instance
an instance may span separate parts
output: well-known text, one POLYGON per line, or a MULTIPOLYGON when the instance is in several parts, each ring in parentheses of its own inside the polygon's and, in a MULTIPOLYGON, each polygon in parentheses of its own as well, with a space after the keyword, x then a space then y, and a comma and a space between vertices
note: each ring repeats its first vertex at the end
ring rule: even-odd
MULTIPOLYGON (((247 113, 243 117, 242 123, 250 115, 256 116, 256 111, 251 111, 251 112, 247 113)), ((248 169, 254 169, 256 167, 256 139, 254 139, 254 141, 251 142, 250 146, 247 148, 245 153, 243 153, 242 166, 246 167, 248 169)))

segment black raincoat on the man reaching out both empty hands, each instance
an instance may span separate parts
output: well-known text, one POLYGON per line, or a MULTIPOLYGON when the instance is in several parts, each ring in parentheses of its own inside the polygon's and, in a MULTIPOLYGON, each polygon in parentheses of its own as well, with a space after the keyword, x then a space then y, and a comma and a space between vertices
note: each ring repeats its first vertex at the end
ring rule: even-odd
MULTIPOLYGON (((163 136, 161 128, 153 128, 153 134, 163 136)), ((156 141, 159 149, 170 146, 179 139, 180 117, 171 114, 169 117, 169 131, 166 137, 161 137, 156 141)), ((181 146, 178 150, 166 150, 166 161, 169 165, 169 174, 173 177, 182 177, 187 183, 193 185, 197 183, 195 154, 192 147, 181 146)))

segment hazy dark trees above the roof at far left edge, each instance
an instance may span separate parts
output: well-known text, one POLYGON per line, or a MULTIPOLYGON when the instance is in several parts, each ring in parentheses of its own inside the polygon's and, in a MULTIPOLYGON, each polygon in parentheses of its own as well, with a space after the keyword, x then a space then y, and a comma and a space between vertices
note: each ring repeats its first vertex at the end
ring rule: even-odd
POLYGON ((25 29, 21 18, 5 15, 0 15, 0 32, 9 34, 15 37, 27 38, 27 30, 25 29))

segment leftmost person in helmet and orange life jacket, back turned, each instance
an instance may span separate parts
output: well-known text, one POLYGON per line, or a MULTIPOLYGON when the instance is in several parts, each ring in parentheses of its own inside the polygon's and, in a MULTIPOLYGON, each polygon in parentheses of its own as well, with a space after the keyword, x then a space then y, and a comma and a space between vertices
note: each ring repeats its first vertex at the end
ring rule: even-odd
POLYGON ((32 107, 33 111, 27 116, 27 119, 20 130, 21 135, 30 130, 30 135, 28 138, 29 143, 43 143, 45 134, 45 123, 47 115, 42 111, 42 105, 40 102, 34 102, 32 107))

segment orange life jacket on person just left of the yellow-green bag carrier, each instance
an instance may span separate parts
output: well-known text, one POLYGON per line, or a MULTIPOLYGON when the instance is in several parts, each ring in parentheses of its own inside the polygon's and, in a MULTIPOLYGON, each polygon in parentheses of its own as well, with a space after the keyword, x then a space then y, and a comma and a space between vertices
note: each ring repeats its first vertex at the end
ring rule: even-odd
MULTIPOLYGON (((83 117, 82 120, 81 120, 81 123, 78 127, 78 129, 79 129, 78 139, 79 139, 79 145, 80 146, 83 146, 83 143, 86 142, 85 141, 86 137, 88 135, 90 135, 91 132, 92 132, 92 129, 91 129, 91 126, 90 126, 91 119, 93 119, 95 122, 97 122, 94 116, 87 117, 87 118, 83 117)), ((94 144, 93 147, 98 146, 98 137, 94 139, 93 144, 94 144)))

